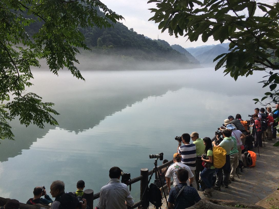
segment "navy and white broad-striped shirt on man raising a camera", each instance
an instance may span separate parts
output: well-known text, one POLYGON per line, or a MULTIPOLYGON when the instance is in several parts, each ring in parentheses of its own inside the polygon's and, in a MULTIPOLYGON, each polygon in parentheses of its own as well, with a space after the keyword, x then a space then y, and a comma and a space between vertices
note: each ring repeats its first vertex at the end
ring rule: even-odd
POLYGON ((196 170, 196 145, 185 144, 180 146, 177 150, 181 154, 181 162, 189 166, 194 171, 196 170))

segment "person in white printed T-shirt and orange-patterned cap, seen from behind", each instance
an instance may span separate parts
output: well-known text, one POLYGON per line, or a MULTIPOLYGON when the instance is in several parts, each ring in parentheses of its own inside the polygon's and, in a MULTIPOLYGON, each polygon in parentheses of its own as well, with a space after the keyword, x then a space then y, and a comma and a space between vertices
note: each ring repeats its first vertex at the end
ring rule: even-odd
POLYGON ((177 152, 174 153, 174 164, 170 165, 165 175, 169 192, 170 192, 170 177, 172 177, 172 179, 174 180, 173 186, 175 187, 176 185, 178 185, 179 180, 177 178, 177 171, 182 168, 186 169, 189 172, 189 181, 187 180, 187 184, 192 186, 194 175, 191 172, 189 166, 186 166, 184 163, 181 162, 181 154, 177 152))

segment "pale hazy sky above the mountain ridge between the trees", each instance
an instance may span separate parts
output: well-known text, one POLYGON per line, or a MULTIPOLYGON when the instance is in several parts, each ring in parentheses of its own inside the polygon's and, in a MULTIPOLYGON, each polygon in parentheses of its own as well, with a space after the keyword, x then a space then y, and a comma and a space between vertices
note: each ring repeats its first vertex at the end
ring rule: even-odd
MULTIPOLYGON (((150 13, 149 8, 155 8, 155 3, 147 4, 147 0, 101 0, 109 9, 116 12, 117 14, 122 15, 125 20, 122 21, 129 29, 134 28, 139 34, 143 34, 149 38, 163 39, 169 42, 170 45, 179 44, 184 48, 187 47, 196 47, 201 45, 211 45, 219 44, 220 42, 215 42, 213 39, 208 39, 206 43, 202 42, 201 37, 197 42, 186 42, 186 37, 175 38, 175 36, 170 36, 167 30, 164 33, 161 33, 161 30, 158 30, 159 23, 154 23, 154 21, 148 21, 153 15, 150 13)), ((154 13, 153 13, 154 14, 154 13)))

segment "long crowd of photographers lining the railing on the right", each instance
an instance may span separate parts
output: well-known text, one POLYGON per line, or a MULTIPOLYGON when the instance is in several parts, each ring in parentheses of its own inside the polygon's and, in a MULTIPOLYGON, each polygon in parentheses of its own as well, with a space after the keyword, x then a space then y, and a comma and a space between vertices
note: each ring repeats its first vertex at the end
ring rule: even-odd
MULTIPOLYGON (((242 153, 253 147, 262 147, 263 140, 276 138, 274 119, 278 116, 279 105, 272 113, 271 107, 256 108, 250 120, 242 120, 241 115, 229 116, 222 127, 215 132, 215 137, 199 138, 197 132, 184 133, 175 137, 178 141, 177 153, 174 154, 174 164, 165 173, 169 189, 169 208, 187 208, 200 200, 196 190, 202 189, 205 195, 211 196, 213 189, 220 190, 221 186, 228 188, 235 181, 237 169, 243 169, 242 153), (250 132, 252 131, 252 135, 250 132), (192 139, 193 143, 190 143, 192 139), (225 164, 220 168, 213 166, 213 147, 222 147, 226 151, 225 164), (187 181, 182 182, 179 171, 187 173, 187 181), (170 188, 173 178, 174 187, 170 188), (193 188, 193 189, 190 189, 193 188), (177 200, 182 192, 184 199, 177 200), (185 199, 191 200, 186 203, 185 199)), ((218 159, 215 159, 218 161, 218 159)))

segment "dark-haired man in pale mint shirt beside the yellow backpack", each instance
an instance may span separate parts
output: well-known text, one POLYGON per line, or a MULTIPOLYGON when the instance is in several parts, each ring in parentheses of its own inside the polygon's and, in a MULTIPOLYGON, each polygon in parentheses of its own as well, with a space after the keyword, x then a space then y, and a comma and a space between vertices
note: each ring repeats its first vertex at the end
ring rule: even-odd
POLYGON ((234 147, 234 140, 232 140, 230 136, 231 136, 231 132, 229 130, 227 129, 223 130, 223 137, 224 137, 223 141, 219 145, 216 145, 215 142, 212 143, 214 147, 222 147, 227 152, 226 163, 222 168, 218 169, 216 175, 216 182, 215 182, 215 186, 213 186, 213 189, 220 190, 222 178, 223 178, 223 185, 225 186, 225 188, 228 188, 229 175, 230 175, 230 150, 232 150, 232 148, 234 147))

